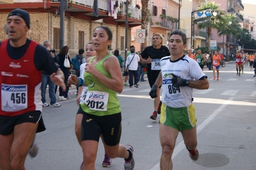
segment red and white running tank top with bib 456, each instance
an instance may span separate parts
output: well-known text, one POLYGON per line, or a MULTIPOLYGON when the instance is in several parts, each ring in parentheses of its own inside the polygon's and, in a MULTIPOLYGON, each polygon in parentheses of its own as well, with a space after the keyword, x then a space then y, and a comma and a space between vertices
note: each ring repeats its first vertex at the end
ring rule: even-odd
POLYGON ((38 43, 31 41, 21 59, 12 59, 7 52, 8 40, 1 43, 0 104, 1 116, 15 116, 30 111, 41 111, 42 71, 34 64, 38 43))

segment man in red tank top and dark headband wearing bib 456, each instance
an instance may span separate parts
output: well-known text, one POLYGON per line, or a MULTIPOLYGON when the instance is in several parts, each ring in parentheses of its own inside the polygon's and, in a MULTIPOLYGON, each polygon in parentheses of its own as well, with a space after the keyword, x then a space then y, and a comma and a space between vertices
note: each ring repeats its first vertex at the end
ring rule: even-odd
POLYGON ((25 169, 35 133, 46 129, 41 115, 42 70, 65 89, 64 74, 44 47, 27 38, 28 12, 12 10, 6 27, 9 39, 0 42, 0 169, 25 169))

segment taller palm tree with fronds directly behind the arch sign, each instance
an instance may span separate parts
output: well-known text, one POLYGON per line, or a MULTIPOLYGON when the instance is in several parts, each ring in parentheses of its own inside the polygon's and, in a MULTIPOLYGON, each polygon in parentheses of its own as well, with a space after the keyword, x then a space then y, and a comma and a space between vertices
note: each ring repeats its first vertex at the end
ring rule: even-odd
POLYGON ((207 36, 208 36, 208 50, 210 51, 210 35, 212 34, 212 28, 218 29, 218 26, 216 23, 219 22, 219 20, 223 20, 223 11, 219 10, 219 5, 220 4, 215 4, 214 2, 208 2, 206 1, 198 10, 203 10, 210 8, 212 12, 215 12, 217 15, 210 18, 209 22, 203 22, 201 24, 198 24, 199 29, 204 29, 207 27, 207 36))

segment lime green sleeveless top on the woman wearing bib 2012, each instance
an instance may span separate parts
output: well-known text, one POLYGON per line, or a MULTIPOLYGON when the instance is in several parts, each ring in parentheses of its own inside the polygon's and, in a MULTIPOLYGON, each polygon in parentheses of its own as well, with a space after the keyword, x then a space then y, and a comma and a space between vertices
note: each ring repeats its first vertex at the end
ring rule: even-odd
MULTIPOLYGON (((112 54, 108 54, 105 58, 101 59, 101 61, 99 61, 99 63, 97 63, 95 65, 95 67, 99 72, 103 73, 105 76, 112 78, 110 73, 108 73, 103 66, 104 61, 106 61, 110 56, 112 56, 112 54)), ((96 56, 92 57, 92 59, 90 59, 89 63, 92 63, 92 61, 95 58, 96 58, 96 56)), ((102 109, 103 102, 99 103, 97 100, 93 100, 93 101, 87 100, 87 101, 85 101, 85 103, 81 104, 81 109, 83 109, 83 111, 87 112, 88 114, 93 114, 96 116, 106 116, 106 115, 117 114, 117 113, 121 112, 119 100, 118 100, 116 92, 114 90, 107 88, 107 86, 105 86, 98 79, 95 79, 95 77, 93 75, 91 75, 90 73, 85 72, 83 74, 83 77, 88 86, 87 97, 92 96, 92 94, 94 96, 95 96, 95 94, 97 94, 97 92, 92 93, 92 91, 94 91, 94 92, 99 91, 99 93, 102 93, 102 92, 108 93, 108 100, 107 100, 107 102, 104 102, 105 107, 107 107, 107 111, 100 111, 100 109, 102 109), (99 108, 98 108, 98 110, 94 110, 94 109, 92 109, 92 107, 94 107, 94 108, 99 107, 99 108)), ((103 96, 106 96, 106 95, 98 95, 99 98, 103 98, 103 96)))

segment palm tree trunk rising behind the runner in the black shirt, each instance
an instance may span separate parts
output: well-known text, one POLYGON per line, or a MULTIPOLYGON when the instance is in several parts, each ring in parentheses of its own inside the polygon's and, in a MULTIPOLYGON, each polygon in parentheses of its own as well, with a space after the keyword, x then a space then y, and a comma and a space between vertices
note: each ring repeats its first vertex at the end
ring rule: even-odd
MULTIPOLYGON (((141 50, 147 47, 147 36, 148 36, 148 0, 141 0, 141 29, 146 29, 145 42, 141 44, 141 50)), ((150 15, 149 15, 150 16, 150 15)))

